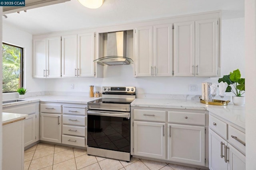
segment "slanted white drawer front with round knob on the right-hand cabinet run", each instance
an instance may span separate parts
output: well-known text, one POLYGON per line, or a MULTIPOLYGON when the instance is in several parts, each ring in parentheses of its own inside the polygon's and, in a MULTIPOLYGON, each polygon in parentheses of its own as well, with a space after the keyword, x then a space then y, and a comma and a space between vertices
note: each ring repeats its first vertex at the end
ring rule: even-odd
POLYGON ((209 127, 214 130, 218 135, 227 139, 227 124, 212 115, 209 115, 209 127))

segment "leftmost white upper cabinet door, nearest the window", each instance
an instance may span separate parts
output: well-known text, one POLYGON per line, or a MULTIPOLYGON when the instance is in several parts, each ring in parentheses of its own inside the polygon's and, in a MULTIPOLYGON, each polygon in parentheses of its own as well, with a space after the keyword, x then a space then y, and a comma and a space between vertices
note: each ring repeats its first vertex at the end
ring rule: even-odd
POLYGON ((46 77, 46 39, 33 40, 34 78, 46 77))

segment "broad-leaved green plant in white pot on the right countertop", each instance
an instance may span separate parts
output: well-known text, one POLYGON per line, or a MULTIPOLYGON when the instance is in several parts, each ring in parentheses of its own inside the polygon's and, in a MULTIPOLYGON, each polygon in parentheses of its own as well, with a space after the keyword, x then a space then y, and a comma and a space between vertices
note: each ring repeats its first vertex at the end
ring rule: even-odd
POLYGON ((240 70, 234 70, 228 75, 224 75, 222 78, 219 78, 218 82, 228 83, 226 92, 232 92, 235 96, 232 96, 232 102, 234 105, 244 105, 245 98, 242 96, 245 92, 245 78, 241 78, 240 70))

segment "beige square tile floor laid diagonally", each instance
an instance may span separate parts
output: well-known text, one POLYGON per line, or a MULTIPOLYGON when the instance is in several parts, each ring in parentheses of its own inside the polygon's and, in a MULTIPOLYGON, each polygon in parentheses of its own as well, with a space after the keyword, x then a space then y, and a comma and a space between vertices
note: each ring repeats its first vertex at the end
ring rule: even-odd
POLYGON ((132 158, 130 162, 89 156, 86 150, 38 143, 24 152, 24 170, 199 170, 132 158))

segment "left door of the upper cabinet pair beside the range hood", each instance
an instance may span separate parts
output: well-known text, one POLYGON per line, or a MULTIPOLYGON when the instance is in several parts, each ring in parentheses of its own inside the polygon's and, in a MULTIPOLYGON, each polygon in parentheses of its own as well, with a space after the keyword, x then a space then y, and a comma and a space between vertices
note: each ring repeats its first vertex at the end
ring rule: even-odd
POLYGON ((77 76, 77 35, 62 36, 62 77, 77 76))

